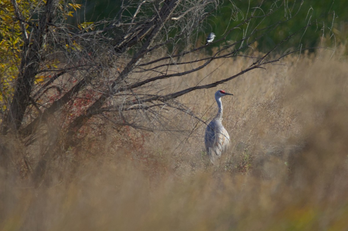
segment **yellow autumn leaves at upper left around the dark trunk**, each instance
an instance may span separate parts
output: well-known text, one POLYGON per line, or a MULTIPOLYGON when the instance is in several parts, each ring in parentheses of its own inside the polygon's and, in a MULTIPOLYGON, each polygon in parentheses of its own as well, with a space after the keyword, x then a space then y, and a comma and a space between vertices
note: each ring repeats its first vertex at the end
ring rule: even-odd
MULTIPOLYGON (((37 25, 37 19, 32 17, 32 10, 42 7, 46 1, 33 0, 16 0, 19 11, 24 20, 37 25)), ((63 16, 72 17, 73 13, 81 8, 81 4, 68 3, 60 1, 58 9, 61 10, 63 16), (72 10, 73 9, 73 10, 72 10)), ((28 24, 25 24, 26 34, 30 36, 31 29, 28 24)), ((14 92, 14 83, 18 76, 18 67, 21 63, 23 36, 21 23, 16 19, 15 10, 11 0, 0 0, 0 104, 4 105, 14 92)), ((77 43, 73 43, 74 47, 69 49, 81 49, 77 43)), ((45 80, 46 76, 35 78, 34 83, 39 84, 45 80)), ((4 110, 4 106, 0 106, 4 110)), ((6 108, 5 108, 6 109, 6 108)))

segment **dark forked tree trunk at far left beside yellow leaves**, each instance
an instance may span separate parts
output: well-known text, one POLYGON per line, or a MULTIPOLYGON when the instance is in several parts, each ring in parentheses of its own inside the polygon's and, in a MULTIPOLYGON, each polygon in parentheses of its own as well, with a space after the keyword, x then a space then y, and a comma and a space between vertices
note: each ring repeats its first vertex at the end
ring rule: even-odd
POLYGON ((39 62, 41 61, 40 50, 45 44, 48 34, 47 23, 52 22, 57 0, 47 0, 45 10, 38 20, 38 25, 32 24, 30 36, 26 31, 25 18, 23 17, 17 2, 12 0, 17 20, 21 23, 23 35, 23 48, 21 65, 16 79, 15 92, 9 106, 7 116, 1 133, 17 133, 21 127, 24 113, 30 104, 30 94, 34 84, 35 76, 38 72, 39 62))

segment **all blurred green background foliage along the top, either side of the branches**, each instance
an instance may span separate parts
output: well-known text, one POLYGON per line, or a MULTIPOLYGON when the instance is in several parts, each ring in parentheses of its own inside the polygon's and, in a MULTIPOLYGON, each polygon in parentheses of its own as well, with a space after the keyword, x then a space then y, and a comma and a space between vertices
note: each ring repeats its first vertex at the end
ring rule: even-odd
MULTIPOLYGON (((84 16, 87 19, 95 21, 102 18, 117 18, 117 12, 120 10, 122 1, 110 2, 103 0, 91 2, 81 0, 80 3, 86 5, 84 16), (105 9, 105 6, 108 7, 105 9)), ((128 16, 134 14, 138 4, 139 2, 137 1, 129 3, 132 7, 128 8, 128 16)), ((254 33, 251 38, 257 38, 256 46, 258 46, 258 50, 266 52, 274 48, 276 44, 283 41, 286 37, 302 30, 301 33, 290 38, 288 47, 334 46, 337 45, 335 43, 344 42, 347 38, 345 28, 348 23, 348 16, 345 12, 345 6, 347 6, 346 0, 339 2, 331 0, 221 1, 216 11, 206 9, 206 12, 210 12, 211 16, 208 20, 202 22, 201 31, 197 31, 196 33, 199 34, 198 39, 200 40, 200 44, 204 43, 205 36, 210 32, 216 34, 217 37, 215 40, 227 35, 226 40, 214 43, 211 47, 219 47, 228 41, 238 41, 246 34, 254 33), (247 20, 253 12, 255 18, 252 19, 249 25, 238 26, 241 22, 247 20), (261 17, 263 15, 268 16, 261 17), (279 20, 282 23, 277 26, 276 23, 279 20), (308 24, 313 25, 304 29, 308 24), (268 26, 271 27, 267 28, 268 26), (234 27, 236 28, 232 30, 232 33, 227 34, 234 27), (330 32, 331 30, 332 32, 330 32), (266 35, 261 36, 265 31, 267 31, 266 35), (329 40, 328 38, 330 36, 335 39, 329 40)), ((82 16, 79 16, 79 18, 81 20, 82 16)), ((178 31, 172 31, 169 33, 169 37, 173 37, 177 33, 178 31)), ((191 39, 197 40, 197 37, 191 39)), ((193 41, 193 44, 196 42, 193 41)), ((168 48, 169 50, 173 49, 170 45, 168 48)), ((284 52, 284 50, 280 52, 284 52)))

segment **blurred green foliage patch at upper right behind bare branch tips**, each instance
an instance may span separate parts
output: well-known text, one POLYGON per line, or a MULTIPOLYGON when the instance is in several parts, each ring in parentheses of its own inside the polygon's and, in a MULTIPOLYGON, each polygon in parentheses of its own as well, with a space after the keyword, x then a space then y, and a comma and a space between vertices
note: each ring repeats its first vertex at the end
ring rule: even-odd
MULTIPOLYGON (((257 38, 259 44, 258 50, 266 52, 272 49, 276 44, 283 41, 288 36, 297 31, 301 33, 291 37, 289 47, 314 47, 321 37, 330 32, 334 20, 341 15, 340 20, 347 22, 347 16, 344 14, 344 8, 341 2, 332 1, 225 1, 220 7, 220 12, 213 15, 207 22, 206 27, 211 27, 217 38, 224 36, 224 32, 236 27, 241 21, 247 20, 254 12, 250 25, 243 25, 234 29, 226 39, 238 41, 244 34, 255 33, 252 38, 257 38), (239 11, 236 11, 239 9, 239 11), (268 15, 267 17, 261 17, 268 15), (291 20, 290 20, 291 19, 291 20), (280 20, 279 26, 277 22, 280 20), (313 24, 304 29, 309 24, 313 24), (274 25, 274 26, 272 26, 274 25), (271 26, 271 27, 269 27, 271 26), (269 28, 268 28, 269 27, 269 28), (253 31, 256 29, 255 31, 253 31), (261 33, 267 31, 266 35, 258 37, 261 33)), ((332 32, 329 33, 332 35, 332 32)), ((224 41, 217 43, 222 45, 224 41)), ((323 44, 332 46, 334 44, 323 44)), ((284 52, 284 51, 283 51, 284 52)))

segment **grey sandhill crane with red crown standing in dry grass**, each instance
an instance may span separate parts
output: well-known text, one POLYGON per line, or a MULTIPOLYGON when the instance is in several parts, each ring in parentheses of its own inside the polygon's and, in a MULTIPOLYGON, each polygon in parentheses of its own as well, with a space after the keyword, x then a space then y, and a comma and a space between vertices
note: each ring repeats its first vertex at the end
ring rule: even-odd
POLYGON ((226 129, 222 126, 222 103, 221 97, 225 95, 232 95, 225 91, 219 90, 215 93, 215 100, 219 110, 216 116, 205 129, 204 143, 210 161, 216 164, 220 159, 221 153, 226 152, 231 145, 230 136, 226 129))

